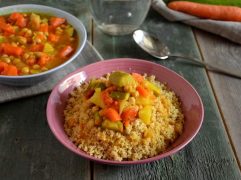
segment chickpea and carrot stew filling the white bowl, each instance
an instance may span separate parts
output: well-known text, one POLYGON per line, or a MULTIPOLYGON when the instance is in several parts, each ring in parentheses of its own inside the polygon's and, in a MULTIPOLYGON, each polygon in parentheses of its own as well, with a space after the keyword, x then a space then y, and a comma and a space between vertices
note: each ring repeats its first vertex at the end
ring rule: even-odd
POLYGON ((52 69, 73 55, 78 43, 66 19, 37 13, 0 16, 0 75, 52 69))

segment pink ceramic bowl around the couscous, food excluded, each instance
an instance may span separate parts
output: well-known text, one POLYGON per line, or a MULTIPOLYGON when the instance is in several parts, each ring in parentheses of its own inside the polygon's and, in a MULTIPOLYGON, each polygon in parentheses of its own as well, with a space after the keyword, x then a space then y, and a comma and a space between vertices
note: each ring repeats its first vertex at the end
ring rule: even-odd
POLYGON ((137 59, 112 59, 100 61, 90 64, 83 68, 77 69, 73 73, 66 76, 53 89, 49 96, 47 104, 47 120, 50 129, 55 137, 69 150, 74 153, 87 158, 89 160, 97 161, 105 164, 113 165, 127 165, 127 164, 141 164, 151 161, 159 160, 170 156, 182 148, 184 148, 198 133, 204 116, 203 104, 200 96, 196 90, 177 73, 169 70, 161 65, 137 59), (65 108, 68 94, 80 83, 88 81, 93 77, 100 77, 106 73, 116 70, 123 70, 126 72, 146 73, 148 75, 155 75, 160 82, 166 82, 168 86, 180 97, 182 108, 185 115, 184 132, 169 147, 169 149, 155 157, 138 160, 138 161, 110 161, 102 160, 86 154, 84 151, 78 149, 66 135, 63 123, 63 110, 65 108))

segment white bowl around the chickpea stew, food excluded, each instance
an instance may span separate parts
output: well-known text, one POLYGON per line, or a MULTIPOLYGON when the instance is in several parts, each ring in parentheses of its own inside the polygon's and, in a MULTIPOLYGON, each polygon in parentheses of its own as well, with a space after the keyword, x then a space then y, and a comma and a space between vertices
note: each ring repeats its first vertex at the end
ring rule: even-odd
POLYGON ((36 5, 36 4, 22 4, 22 5, 13 5, 0 8, 0 16, 11 14, 12 12, 35 12, 35 13, 44 13, 50 16, 58 16, 63 17, 67 20, 69 24, 73 26, 75 31, 77 32, 78 36, 78 45, 75 53, 63 64, 50 69, 48 71, 33 74, 33 75, 22 75, 22 76, 4 76, 0 75, 0 83, 6 85, 13 85, 13 86, 30 86, 34 85, 40 81, 47 79, 51 74, 55 73, 59 69, 63 68, 70 62, 72 62, 83 50, 84 45, 87 39, 87 33, 84 25, 82 22, 77 19, 75 16, 62 11, 57 8, 43 6, 43 5, 36 5))

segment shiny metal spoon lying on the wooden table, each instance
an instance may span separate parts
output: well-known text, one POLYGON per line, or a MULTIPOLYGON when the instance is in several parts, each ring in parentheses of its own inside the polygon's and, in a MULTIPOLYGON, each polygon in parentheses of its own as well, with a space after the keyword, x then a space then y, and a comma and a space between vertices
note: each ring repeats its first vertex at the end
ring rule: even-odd
POLYGON ((241 78, 241 74, 236 74, 234 72, 229 72, 226 71, 225 69, 221 69, 219 67, 216 67, 212 64, 199 61, 198 59, 187 57, 187 56, 182 56, 182 55, 174 55, 170 54, 169 48, 162 43, 159 39, 156 37, 151 36, 147 32, 143 30, 136 30, 133 33, 133 38, 135 42, 147 53, 150 55, 158 58, 158 59, 167 59, 169 57, 174 57, 174 58, 182 58, 185 61, 194 63, 196 65, 205 67, 208 70, 211 70, 213 72, 218 72, 221 74, 225 74, 228 76, 236 77, 236 78, 241 78))

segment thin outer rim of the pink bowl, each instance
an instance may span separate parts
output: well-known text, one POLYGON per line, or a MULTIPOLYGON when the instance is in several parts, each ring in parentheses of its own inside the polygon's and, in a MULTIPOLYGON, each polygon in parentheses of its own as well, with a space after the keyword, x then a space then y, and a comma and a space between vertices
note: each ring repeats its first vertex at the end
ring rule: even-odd
POLYGON ((168 157, 168 156, 171 156, 175 153, 177 153, 178 151, 182 150, 187 144, 189 144, 193 139, 194 137, 197 135, 197 133, 199 132, 201 126, 202 126, 202 123, 203 123, 203 119, 204 119, 204 106, 203 106, 203 102, 202 102, 202 99, 200 97, 200 95, 198 94, 198 92, 196 91, 196 89, 192 86, 192 84, 190 84, 185 78, 183 78, 181 75, 179 75, 178 73, 176 73, 175 71, 163 66, 163 65, 160 65, 160 64, 157 64, 157 63, 154 63, 154 62, 151 62, 151 61, 147 61, 147 60, 143 60, 143 59, 136 59, 136 58, 113 58, 113 59, 105 59, 103 61, 99 61, 99 62, 95 62, 95 63, 91 63, 89 65, 86 65, 86 66, 83 66, 83 67, 80 67, 78 69, 76 69, 75 71, 73 71, 72 73, 66 75, 62 80, 60 80, 53 88, 50 96, 49 96, 49 99, 48 99, 48 102, 47 102, 47 109, 46 109, 46 114, 47 114, 47 122, 48 122, 48 125, 52 131, 52 133, 54 134, 54 136, 58 139, 58 141, 63 144, 67 149, 69 149, 70 151, 74 152, 75 154, 81 156, 81 157, 84 157, 88 160, 91 160, 91 161, 94 161, 94 162, 98 162, 98 163, 101 163, 101 164, 109 164, 109 165, 135 165, 135 164, 145 164, 145 163, 149 163, 149 162, 153 162, 153 161, 157 161, 157 160, 160 160, 160 159, 163 159, 165 157, 168 157), (175 76, 178 76, 179 78, 181 78, 185 83, 187 83, 188 86, 191 87, 192 91, 194 92, 194 94, 197 96, 197 99, 199 101, 199 104, 201 106, 201 119, 200 119, 200 123, 198 125, 198 128, 195 130, 195 132, 192 134, 192 136, 188 137, 184 143, 176 146, 175 148, 169 150, 169 151, 166 151, 166 152, 163 152, 157 156, 154 156, 154 157, 151 157, 151 158, 147 158, 147 159, 142 159, 142 160, 135 160, 135 161, 113 161, 113 160, 105 160, 105 159, 99 159, 99 158, 95 158, 93 156, 90 156, 88 155, 87 153, 85 153, 84 151, 81 152, 80 149, 78 149, 77 147, 76 148, 72 148, 69 146, 69 144, 67 142, 65 142, 63 139, 61 139, 58 134, 56 133, 56 130, 54 127, 51 126, 51 120, 49 119, 49 113, 50 113, 50 99, 52 97, 53 94, 55 94, 57 92, 57 89, 58 87, 68 78, 70 78, 71 76, 75 75, 76 73, 78 72, 81 72, 81 71, 84 71, 86 68, 89 68, 91 66, 96 66, 96 65, 105 65, 105 64, 110 64, 110 63, 115 63, 115 62, 136 62, 136 63, 146 63, 146 64, 149 64, 149 65, 152 65, 152 66, 156 66, 156 67, 159 67, 159 68, 162 68, 162 69, 165 69, 166 71, 169 71, 170 73, 174 74, 175 76))

